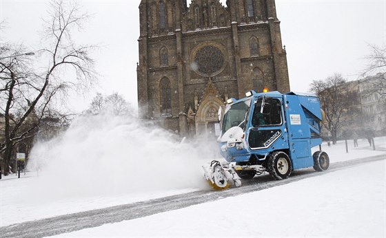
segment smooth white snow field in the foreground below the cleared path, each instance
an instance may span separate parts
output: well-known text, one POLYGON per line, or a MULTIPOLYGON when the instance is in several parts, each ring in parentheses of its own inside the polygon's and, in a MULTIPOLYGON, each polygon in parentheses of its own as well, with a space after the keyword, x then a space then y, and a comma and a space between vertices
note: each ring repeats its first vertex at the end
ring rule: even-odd
POLYGON ((385 237, 385 160, 57 237, 385 237))

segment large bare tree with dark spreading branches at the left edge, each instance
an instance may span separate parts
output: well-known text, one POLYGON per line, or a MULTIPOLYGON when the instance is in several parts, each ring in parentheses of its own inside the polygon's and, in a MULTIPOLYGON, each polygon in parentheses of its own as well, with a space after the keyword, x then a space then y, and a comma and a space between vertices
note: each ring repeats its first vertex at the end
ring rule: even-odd
MULTIPOLYGON (((1 43, 1 113, 5 116, 3 141, 4 174, 8 175, 12 153, 19 142, 36 135, 42 119, 49 116, 50 107, 58 98, 63 98, 70 89, 85 88, 95 79, 94 61, 89 56, 92 45, 77 45, 72 39, 74 30, 88 18, 79 11, 79 6, 70 1, 52 1, 49 6, 50 19, 45 21, 44 45, 37 57, 41 57, 45 68, 17 55, 22 47, 9 47, 1 43), (74 78, 63 76, 72 69, 74 78), (59 97, 60 96, 60 97, 59 97)), ((35 62, 39 62, 35 58, 35 62)))

